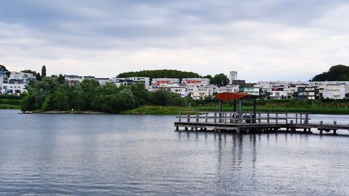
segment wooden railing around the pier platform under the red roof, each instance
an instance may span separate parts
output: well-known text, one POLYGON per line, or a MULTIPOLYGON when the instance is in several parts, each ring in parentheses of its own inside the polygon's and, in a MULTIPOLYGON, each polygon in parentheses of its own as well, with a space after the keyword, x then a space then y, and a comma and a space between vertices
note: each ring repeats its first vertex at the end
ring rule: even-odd
POLYGON ((179 112, 178 122, 181 123, 263 123, 263 124, 307 124, 309 113, 285 112, 179 112))

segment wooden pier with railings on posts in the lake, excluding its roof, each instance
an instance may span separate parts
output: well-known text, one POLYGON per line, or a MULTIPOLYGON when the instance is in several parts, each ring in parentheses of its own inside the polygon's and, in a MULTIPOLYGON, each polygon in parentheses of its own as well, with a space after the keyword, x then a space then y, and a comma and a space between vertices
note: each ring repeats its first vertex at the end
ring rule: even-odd
POLYGON ((312 133, 317 128, 336 135, 337 130, 349 130, 349 124, 309 123, 308 113, 272 113, 272 112, 179 112, 176 130, 225 131, 231 133, 277 133, 299 132, 312 133))

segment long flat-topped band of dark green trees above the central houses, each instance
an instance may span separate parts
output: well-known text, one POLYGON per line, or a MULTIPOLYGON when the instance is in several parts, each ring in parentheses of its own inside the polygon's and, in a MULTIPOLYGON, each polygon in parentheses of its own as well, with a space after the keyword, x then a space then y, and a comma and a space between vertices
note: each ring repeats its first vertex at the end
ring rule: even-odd
POLYGON ((141 70, 135 72, 120 73, 117 77, 150 77, 153 78, 190 78, 190 77, 201 77, 198 73, 186 72, 180 70, 141 70))

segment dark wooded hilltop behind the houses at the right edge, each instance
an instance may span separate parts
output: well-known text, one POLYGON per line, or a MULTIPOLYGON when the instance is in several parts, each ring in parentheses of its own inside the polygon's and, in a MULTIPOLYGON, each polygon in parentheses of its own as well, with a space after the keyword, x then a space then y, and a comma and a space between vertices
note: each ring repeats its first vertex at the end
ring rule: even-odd
POLYGON ((349 80, 349 66, 337 65, 329 68, 328 72, 315 75, 311 81, 348 81, 349 80))

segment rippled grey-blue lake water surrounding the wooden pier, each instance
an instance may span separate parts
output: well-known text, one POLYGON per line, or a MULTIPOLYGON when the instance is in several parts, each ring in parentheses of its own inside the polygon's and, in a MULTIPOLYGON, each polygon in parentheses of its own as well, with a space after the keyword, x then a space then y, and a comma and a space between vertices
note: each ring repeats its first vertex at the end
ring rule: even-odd
POLYGON ((0 110, 0 195, 349 195, 348 136, 174 132, 174 120, 0 110))

